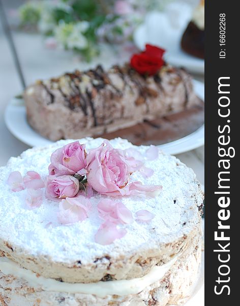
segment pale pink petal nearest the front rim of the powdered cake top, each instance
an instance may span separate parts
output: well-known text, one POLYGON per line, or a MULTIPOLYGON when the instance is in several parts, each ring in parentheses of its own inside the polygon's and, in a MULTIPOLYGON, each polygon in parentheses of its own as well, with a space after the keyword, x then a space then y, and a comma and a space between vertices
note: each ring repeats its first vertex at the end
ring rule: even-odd
POLYGON ((116 239, 121 239, 127 234, 125 228, 117 228, 116 224, 103 223, 95 235, 95 241, 102 245, 111 244, 116 239))

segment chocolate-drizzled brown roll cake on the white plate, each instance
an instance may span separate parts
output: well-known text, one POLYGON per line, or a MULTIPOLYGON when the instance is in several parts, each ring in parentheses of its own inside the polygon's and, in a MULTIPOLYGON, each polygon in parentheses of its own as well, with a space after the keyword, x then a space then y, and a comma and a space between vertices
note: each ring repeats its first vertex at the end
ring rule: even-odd
POLYGON ((37 81, 24 92, 27 120, 52 141, 98 136, 199 104, 190 75, 164 64, 153 76, 101 66, 37 81))

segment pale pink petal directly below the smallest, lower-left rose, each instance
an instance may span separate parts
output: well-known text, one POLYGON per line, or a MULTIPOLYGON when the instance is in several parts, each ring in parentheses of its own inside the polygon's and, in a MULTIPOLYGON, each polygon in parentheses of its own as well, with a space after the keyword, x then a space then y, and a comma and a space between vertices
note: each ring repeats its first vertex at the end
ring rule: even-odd
POLYGON ((63 199, 59 204, 58 221, 62 224, 72 224, 83 221, 92 205, 84 196, 63 199))

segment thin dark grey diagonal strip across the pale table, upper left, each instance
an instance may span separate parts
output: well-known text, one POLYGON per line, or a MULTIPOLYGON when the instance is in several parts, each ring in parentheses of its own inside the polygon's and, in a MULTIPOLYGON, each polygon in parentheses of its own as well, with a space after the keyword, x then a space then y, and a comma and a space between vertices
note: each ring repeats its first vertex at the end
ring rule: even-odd
POLYGON ((21 65, 20 65, 20 62, 19 62, 18 55, 17 55, 17 50, 16 50, 16 47, 15 47, 15 44, 14 44, 14 41, 13 41, 11 29, 9 27, 8 19, 7 19, 7 16, 5 14, 5 11, 4 11, 4 5, 3 5, 2 0, 0 0, 0 16, 1 16, 2 25, 3 25, 5 35, 7 37, 8 42, 9 42, 9 46, 10 46, 10 49, 11 49, 11 52, 12 52, 13 60, 14 60, 14 63, 15 63, 16 69, 17 69, 17 73, 18 73, 21 85, 22 85, 23 89, 25 89, 26 88, 26 83, 25 83, 25 80, 24 80, 21 65))

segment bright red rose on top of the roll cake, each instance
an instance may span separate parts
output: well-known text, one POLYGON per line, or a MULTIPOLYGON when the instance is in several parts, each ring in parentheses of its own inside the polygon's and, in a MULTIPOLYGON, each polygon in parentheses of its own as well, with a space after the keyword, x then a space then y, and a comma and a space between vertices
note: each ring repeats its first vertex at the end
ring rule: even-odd
POLYGON ((131 58, 131 66, 140 74, 154 75, 163 66, 165 50, 146 44, 146 49, 131 58))

